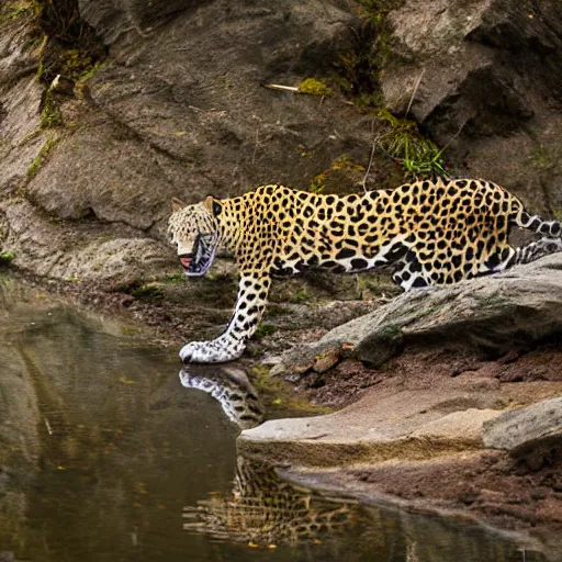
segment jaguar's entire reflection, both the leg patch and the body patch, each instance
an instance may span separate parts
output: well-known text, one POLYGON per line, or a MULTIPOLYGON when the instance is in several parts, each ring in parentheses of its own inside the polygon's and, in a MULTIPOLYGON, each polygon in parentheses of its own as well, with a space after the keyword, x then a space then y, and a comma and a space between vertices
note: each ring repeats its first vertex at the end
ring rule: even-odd
MULTIPOLYGON (((256 389, 244 371, 229 367, 186 367, 181 384, 211 394, 233 423, 248 429, 263 420, 256 389)), ((321 541, 350 522, 349 502, 326 499, 279 477, 274 467, 238 456, 231 494, 212 496, 186 507, 186 530, 216 540, 267 547, 321 541)))

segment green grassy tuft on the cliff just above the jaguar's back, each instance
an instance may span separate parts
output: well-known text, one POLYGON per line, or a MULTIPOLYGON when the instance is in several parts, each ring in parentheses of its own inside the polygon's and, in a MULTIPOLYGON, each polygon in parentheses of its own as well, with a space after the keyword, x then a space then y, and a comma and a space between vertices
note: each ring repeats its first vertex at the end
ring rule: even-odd
POLYGON ((379 110, 376 117, 386 125, 379 136, 379 148, 400 164, 412 178, 446 176, 442 149, 424 137, 413 121, 379 110))

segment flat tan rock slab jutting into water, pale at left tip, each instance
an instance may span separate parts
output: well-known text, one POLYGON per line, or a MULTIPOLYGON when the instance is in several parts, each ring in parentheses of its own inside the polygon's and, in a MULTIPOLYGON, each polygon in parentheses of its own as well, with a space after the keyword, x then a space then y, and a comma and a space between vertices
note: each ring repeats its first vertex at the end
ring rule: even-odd
POLYGON ((482 425, 501 414, 491 392, 368 391, 334 414, 269 420, 238 438, 244 454, 301 467, 429 459, 482 447, 482 425))

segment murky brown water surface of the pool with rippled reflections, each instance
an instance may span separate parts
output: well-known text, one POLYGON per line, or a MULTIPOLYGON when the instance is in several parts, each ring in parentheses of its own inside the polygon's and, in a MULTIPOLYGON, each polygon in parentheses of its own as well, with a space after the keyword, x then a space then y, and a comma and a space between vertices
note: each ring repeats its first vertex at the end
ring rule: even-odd
POLYGON ((237 459, 220 404, 131 331, 0 278, 0 560, 546 560, 237 459))

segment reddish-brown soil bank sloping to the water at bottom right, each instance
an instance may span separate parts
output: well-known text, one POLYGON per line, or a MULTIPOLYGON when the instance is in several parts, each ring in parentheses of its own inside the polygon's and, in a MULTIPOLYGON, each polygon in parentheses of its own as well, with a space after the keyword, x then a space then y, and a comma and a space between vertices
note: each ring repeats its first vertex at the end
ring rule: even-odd
POLYGON ((452 460, 370 467, 349 475, 378 492, 463 509, 508 529, 544 527, 562 531, 562 451, 538 470, 499 451, 452 460))

